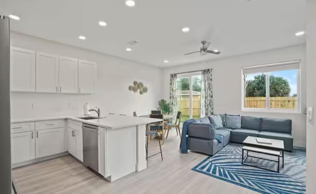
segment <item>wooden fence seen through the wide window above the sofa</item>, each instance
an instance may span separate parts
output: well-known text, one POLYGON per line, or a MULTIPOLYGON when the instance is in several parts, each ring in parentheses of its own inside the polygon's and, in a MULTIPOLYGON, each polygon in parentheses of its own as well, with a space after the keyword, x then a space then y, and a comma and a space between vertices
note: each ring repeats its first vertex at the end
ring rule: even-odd
MULTIPOLYGON (((246 97, 246 108, 265 108, 266 97, 246 97)), ((270 97, 270 108, 297 108, 297 97, 270 97)))

